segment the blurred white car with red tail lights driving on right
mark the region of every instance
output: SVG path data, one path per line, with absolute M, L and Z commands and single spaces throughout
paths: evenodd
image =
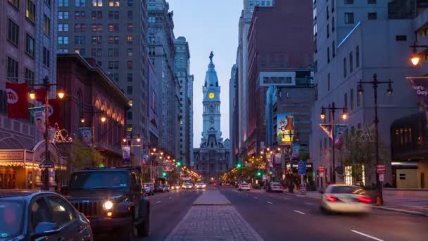
M 320 208 L 327 213 L 368 213 L 372 210 L 372 199 L 365 190 L 351 185 L 329 185 L 322 194 Z

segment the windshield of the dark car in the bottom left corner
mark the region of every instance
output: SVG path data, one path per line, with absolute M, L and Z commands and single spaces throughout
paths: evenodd
M 16 237 L 23 229 L 22 201 L 0 199 L 0 238 Z

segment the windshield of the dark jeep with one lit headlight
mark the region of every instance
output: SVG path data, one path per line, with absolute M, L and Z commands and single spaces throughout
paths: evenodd
M 129 185 L 126 171 L 94 171 L 73 173 L 69 190 L 123 188 Z

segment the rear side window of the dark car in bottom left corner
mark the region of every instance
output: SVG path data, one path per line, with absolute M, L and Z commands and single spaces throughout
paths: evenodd
M 53 220 L 58 226 L 75 219 L 73 208 L 65 200 L 55 196 L 48 196 L 46 200 L 51 207 Z

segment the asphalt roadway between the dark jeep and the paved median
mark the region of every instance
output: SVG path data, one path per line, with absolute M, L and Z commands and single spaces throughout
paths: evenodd
M 139 240 L 165 240 L 191 208 L 202 191 L 170 190 L 149 196 L 151 223 L 149 237 Z

